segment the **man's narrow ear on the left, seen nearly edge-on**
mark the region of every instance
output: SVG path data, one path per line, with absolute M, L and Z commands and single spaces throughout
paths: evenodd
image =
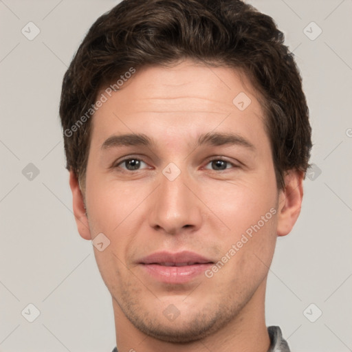
M 72 170 L 69 171 L 69 187 L 72 191 L 74 217 L 76 219 L 78 232 L 83 239 L 90 240 L 91 232 L 89 230 L 83 195 L 78 184 L 78 179 Z

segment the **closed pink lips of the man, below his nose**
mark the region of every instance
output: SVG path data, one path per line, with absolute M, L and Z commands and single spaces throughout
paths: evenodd
M 195 252 L 156 252 L 139 261 L 148 277 L 161 283 L 188 283 L 214 262 Z

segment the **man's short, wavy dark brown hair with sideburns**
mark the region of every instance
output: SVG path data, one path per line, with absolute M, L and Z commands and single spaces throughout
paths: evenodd
M 302 78 L 283 43 L 274 20 L 240 0 L 120 2 L 91 26 L 63 78 L 60 117 L 67 169 L 85 184 L 91 121 L 72 126 L 87 117 L 104 85 L 131 67 L 191 58 L 240 69 L 261 93 L 276 181 L 283 188 L 285 171 L 306 172 L 312 146 Z

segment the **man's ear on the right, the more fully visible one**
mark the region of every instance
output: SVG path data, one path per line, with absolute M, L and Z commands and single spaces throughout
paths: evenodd
M 278 197 L 278 236 L 291 232 L 300 214 L 303 199 L 304 173 L 289 170 L 285 174 L 285 188 L 280 190 Z

